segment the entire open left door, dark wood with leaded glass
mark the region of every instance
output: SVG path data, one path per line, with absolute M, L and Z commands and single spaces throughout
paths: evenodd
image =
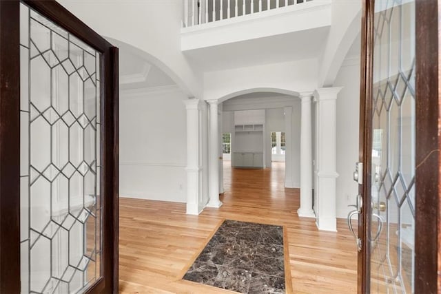
M 56 1 L 0 13 L 1 292 L 116 292 L 118 50 Z

